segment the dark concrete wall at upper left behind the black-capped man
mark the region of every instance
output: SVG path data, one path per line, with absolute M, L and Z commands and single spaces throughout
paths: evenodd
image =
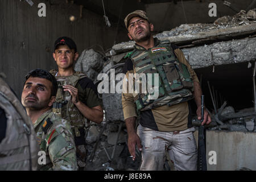
M 126 30 L 121 29 L 116 35 L 116 26 L 106 27 L 103 13 L 98 15 L 84 8 L 82 18 L 71 22 L 70 15 L 79 17 L 79 6 L 56 0 L 33 2 L 31 7 L 26 1 L 0 1 L 0 72 L 5 73 L 7 82 L 18 96 L 28 71 L 56 68 L 52 51 L 59 36 L 70 36 L 75 40 L 79 53 L 90 47 L 106 50 L 114 41 L 128 40 Z M 42 18 L 38 16 L 41 2 L 46 3 L 46 17 Z

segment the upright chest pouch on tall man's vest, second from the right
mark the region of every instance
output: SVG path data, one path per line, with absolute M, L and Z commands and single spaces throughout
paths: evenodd
M 167 64 L 163 65 L 164 72 L 166 73 L 166 78 L 168 80 L 168 84 L 171 87 L 171 91 L 174 92 L 176 90 L 180 90 L 183 88 L 180 81 L 179 72 L 177 72 L 176 64 Z

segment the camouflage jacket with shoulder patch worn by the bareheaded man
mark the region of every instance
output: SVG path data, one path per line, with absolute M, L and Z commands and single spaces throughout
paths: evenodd
M 77 170 L 76 148 L 71 126 L 51 110 L 42 114 L 34 123 L 40 151 L 39 170 Z

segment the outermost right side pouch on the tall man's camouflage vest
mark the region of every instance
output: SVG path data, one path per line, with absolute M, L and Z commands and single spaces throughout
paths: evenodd
M 185 64 L 180 63 L 179 69 L 181 84 L 184 86 L 184 88 L 193 88 L 193 81 L 188 71 L 188 67 Z

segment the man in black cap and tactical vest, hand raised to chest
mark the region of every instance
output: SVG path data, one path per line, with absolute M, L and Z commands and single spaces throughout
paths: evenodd
M 89 129 L 90 121 L 102 122 L 103 110 L 93 81 L 84 73 L 75 72 L 73 69 L 78 57 L 76 44 L 71 38 L 58 38 L 53 52 L 58 69 L 51 70 L 50 73 L 58 82 L 52 111 L 71 124 L 76 143 L 77 164 L 79 170 L 82 170 L 86 160 L 86 131 Z

